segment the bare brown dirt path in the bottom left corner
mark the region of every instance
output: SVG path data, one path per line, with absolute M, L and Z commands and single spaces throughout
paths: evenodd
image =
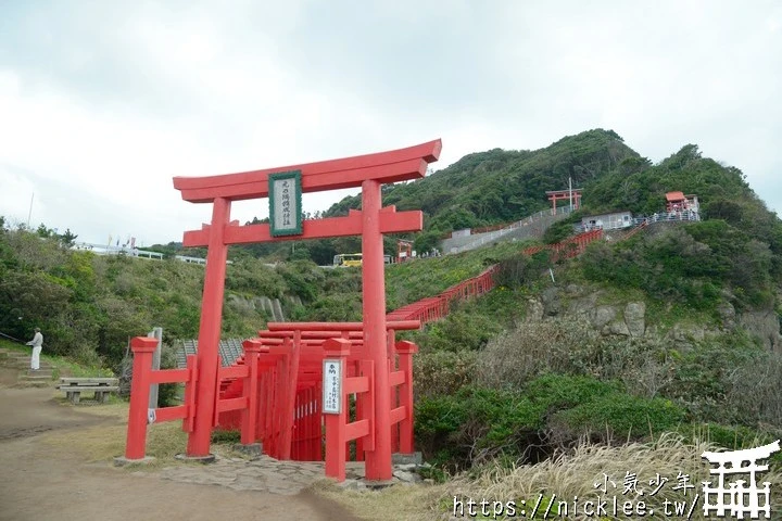
M 358 521 L 307 491 L 295 496 L 237 492 L 166 481 L 110 462 L 87 463 L 43 443 L 40 434 L 115 423 L 116 418 L 62 406 L 51 389 L 3 386 L 12 380 L 15 372 L 0 368 L 0 520 Z

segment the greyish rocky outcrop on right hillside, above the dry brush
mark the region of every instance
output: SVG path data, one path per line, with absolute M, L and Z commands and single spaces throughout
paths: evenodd
M 594 330 L 604 335 L 629 338 L 665 335 L 684 343 L 704 340 L 740 327 L 757 336 L 767 350 L 782 353 L 780 323 L 773 309 L 737 314 L 730 303 L 724 303 L 719 308 L 718 326 L 674 323 L 670 328 L 661 328 L 646 316 L 644 302 L 605 304 L 602 302 L 602 296 L 604 295 L 600 290 L 577 284 L 548 288 L 539 297 L 528 302 L 527 320 L 572 316 L 585 318 Z

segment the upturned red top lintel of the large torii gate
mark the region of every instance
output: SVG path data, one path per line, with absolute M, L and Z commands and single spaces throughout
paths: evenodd
M 440 157 L 438 139 L 406 149 L 302 165 L 206 177 L 175 177 L 174 188 L 191 203 L 207 203 L 215 198 L 230 201 L 268 196 L 268 176 L 279 171 L 301 170 L 302 191 L 317 192 L 361 187 L 368 179 L 381 183 L 421 178 L 426 168 Z

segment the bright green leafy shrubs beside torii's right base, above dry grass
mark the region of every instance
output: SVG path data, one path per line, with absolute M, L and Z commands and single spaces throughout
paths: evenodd
M 450 466 L 492 458 L 534 461 L 584 434 L 642 439 L 678 425 L 684 410 L 671 401 L 627 394 L 618 381 L 546 374 L 524 389 L 468 385 L 416 404 L 416 439 L 427 457 Z

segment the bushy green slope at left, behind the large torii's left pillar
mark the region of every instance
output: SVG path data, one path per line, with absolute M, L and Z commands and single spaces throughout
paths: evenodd
M 1 228 L 0 332 L 29 340 L 40 327 L 48 353 L 116 367 L 128 339 L 155 326 L 169 344 L 198 336 L 203 272 L 173 258 L 98 256 L 68 250 L 59 237 Z M 288 315 L 301 314 L 289 295 L 313 302 L 342 288 L 356 302 L 357 276 L 310 262 L 270 267 L 242 258 L 228 267 L 223 334 L 247 338 L 266 323 L 254 296 L 280 298 Z

